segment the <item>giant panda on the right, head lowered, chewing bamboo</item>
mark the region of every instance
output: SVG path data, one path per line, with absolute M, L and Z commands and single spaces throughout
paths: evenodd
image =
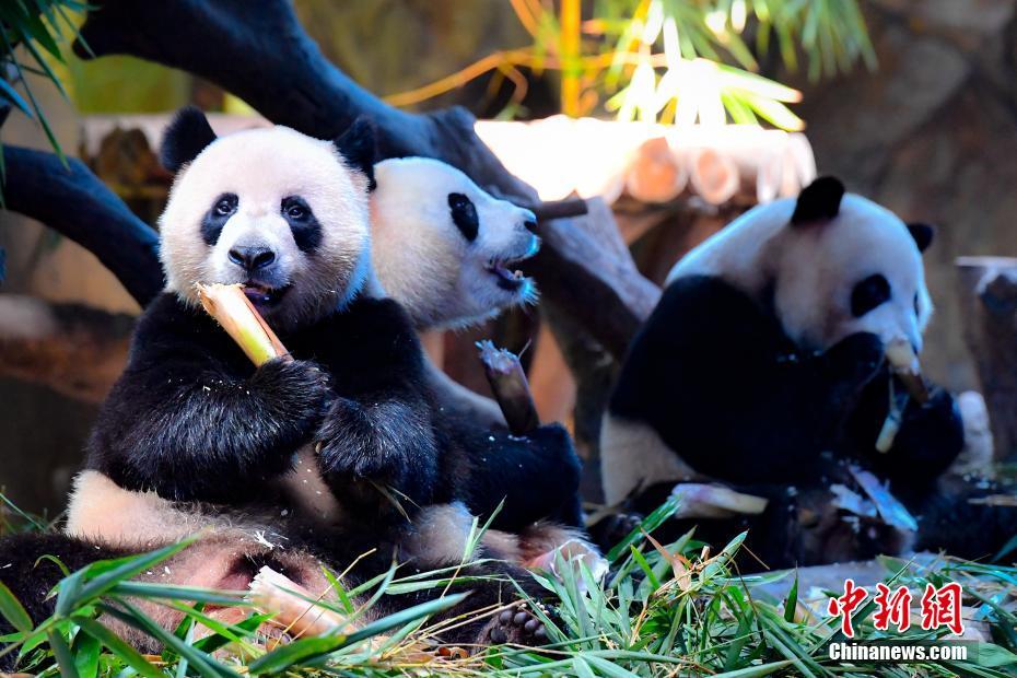
M 851 461 L 888 481 L 920 518 L 916 541 L 862 535 L 875 539 L 873 549 L 960 546 L 940 516 L 969 505 L 945 508 L 936 491 L 963 444 L 949 394 L 933 387 L 927 404 L 912 399 L 892 448 L 875 449 L 890 384 L 900 390 L 885 347 L 903 339 L 921 352 L 933 312 L 922 266 L 932 237 L 930 226 L 905 224 L 822 177 L 688 253 L 633 340 L 609 402 L 600 441 L 607 501 L 632 505 L 636 496 L 645 511 L 690 479 L 750 488 L 771 505 L 737 527 L 785 542 L 768 564 L 808 564 L 844 553 L 825 552 L 821 541 L 803 553 L 788 514 L 797 515 L 803 493 L 829 503 L 826 489 L 845 481 Z M 986 524 L 979 556 L 1005 539 L 1005 522 Z

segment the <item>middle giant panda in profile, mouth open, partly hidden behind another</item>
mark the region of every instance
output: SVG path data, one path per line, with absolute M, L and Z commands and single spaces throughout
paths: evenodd
M 372 261 L 384 292 L 407 309 L 419 330 L 464 328 L 512 306 L 536 303 L 533 279 L 515 269 L 540 248 L 536 215 L 494 198 L 459 170 L 426 157 L 374 165 L 371 191 Z M 484 478 L 471 475 L 466 504 L 482 518 L 499 507 L 492 526 L 533 535 L 550 518 L 580 539 L 580 459 L 560 424 L 511 435 L 498 406 L 457 385 L 426 363 L 426 379 L 443 417 L 445 444 L 503 463 Z M 559 472 L 538 479 L 534 469 L 558 459 Z M 511 479 L 505 472 L 517 474 Z M 545 531 L 554 528 L 545 524 Z M 554 538 L 552 538 L 553 540 Z

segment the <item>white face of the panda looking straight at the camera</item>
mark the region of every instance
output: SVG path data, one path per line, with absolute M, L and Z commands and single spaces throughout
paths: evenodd
M 332 142 L 252 129 L 213 138 L 187 162 L 160 218 L 168 290 L 196 303 L 196 283 L 239 283 L 271 325 L 291 329 L 361 289 L 369 179 Z

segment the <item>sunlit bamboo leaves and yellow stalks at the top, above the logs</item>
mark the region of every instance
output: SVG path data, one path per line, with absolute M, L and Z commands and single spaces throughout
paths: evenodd
M 388 97 L 413 104 L 498 70 L 525 86 L 517 68 L 559 73 L 561 110 L 599 109 L 621 120 L 721 125 L 764 120 L 782 129 L 803 121 L 786 106 L 800 93 L 758 74 L 758 59 L 774 51 L 795 71 L 799 56 L 818 80 L 875 68 L 857 0 L 510 0 L 533 45 L 489 55 L 458 73 Z M 588 15 L 581 15 L 587 9 Z M 513 77 L 515 74 L 516 77 Z

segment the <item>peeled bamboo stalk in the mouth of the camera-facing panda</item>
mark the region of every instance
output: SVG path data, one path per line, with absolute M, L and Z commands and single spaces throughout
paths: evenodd
M 198 284 L 198 299 L 255 365 L 288 356 L 279 337 L 254 307 L 239 284 Z

